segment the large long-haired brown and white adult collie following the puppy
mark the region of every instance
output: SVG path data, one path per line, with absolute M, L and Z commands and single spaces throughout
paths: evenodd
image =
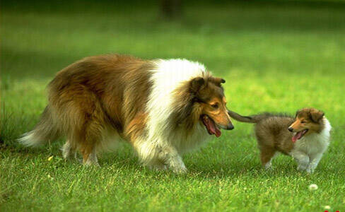
M 40 122 L 19 141 L 37 146 L 64 136 L 64 158 L 78 152 L 83 164 L 98 165 L 97 153 L 124 139 L 144 165 L 185 172 L 182 153 L 233 129 L 221 83 L 186 59 L 86 57 L 49 83 Z

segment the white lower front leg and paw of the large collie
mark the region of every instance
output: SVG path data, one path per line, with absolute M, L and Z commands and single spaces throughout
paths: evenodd
M 176 149 L 171 146 L 160 147 L 158 158 L 168 166 L 172 172 L 185 173 L 187 168 L 183 163 L 181 156 L 177 153 Z

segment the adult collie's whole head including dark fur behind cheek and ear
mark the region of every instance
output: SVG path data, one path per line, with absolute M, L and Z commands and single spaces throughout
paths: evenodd
M 192 127 L 200 122 L 210 135 L 221 136 L 220 129 L 234 129 L 226 108 L 223 78 L 205 75 L 192 78 L 176 93 L 179 124 Z

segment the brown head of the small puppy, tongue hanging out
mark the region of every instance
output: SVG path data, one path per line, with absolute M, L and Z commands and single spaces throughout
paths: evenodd
M 289 131 L 296 133 L 292 141 L 296 142 L 305 135 L 320 132 L 322 130 L 323 117 L 324 112 L 315 108 L 303 108 L 302 110 L 298 110 L 296 112 L 295 122 L 288 126 Z

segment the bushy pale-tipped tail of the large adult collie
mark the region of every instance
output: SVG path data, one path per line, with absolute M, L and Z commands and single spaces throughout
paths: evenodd
M 57 124 L 54 123 L 52 112 L 48 105 L 45 107 L 45 111 L 42 112 L 40 122 L 36 124 L 32 131 L 23 134 L 22 137 L 18 139 L 18 142 L 23 143 L 25 146 L 41 146 L 58 137 L 59 129 L 57 128 Z

